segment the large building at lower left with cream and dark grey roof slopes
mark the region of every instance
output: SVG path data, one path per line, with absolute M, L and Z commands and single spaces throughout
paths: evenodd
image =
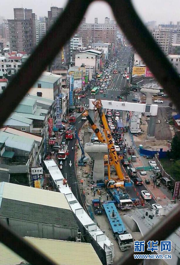
M 75 241 L 78 224 L 65 195 L 0 183 L 0 220 L 19 236 Z

